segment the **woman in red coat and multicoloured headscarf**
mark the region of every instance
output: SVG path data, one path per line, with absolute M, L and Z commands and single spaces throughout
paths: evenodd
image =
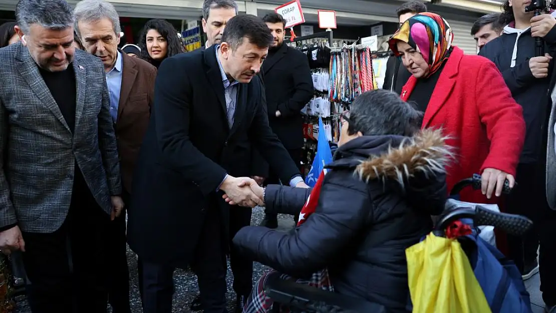
M 448 190 L 480 173 L 482 190 L 466 190 L 461 200 L 484 203 L 483 195 L 500 196 L 506 179 L 513 187 L 525 122 L 494 63 L 464 54 L 453 38 L 442 17 L 421 13 L 402 24 L 389 43 L 412 74 L 401 98 L 425 112 L 422 128 L 443 128 L 450 137 L 446 144 L 455 148 Z

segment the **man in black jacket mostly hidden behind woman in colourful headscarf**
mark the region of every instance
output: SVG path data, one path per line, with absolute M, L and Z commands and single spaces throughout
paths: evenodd
M 421 1 L 408 1 L 396 10 L 400 26 L 410 17 L 423 12 L 426 12 L 426 6 Z M 404 66 L 400 65 L 401 60 L 399 57 L 390 56 L 388 58 L 388 61 L 386 61 L 383 89 L 394 91 L 398 94 L 401 93 L 401 88 L 408 82 L 411 73 Z

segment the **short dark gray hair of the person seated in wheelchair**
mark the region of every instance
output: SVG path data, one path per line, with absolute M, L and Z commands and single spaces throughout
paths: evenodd
M 349 113 L 347 132 L 368 136 L 412 136 L 423 116 L 397 93 L 380 89 L 361 93 L 351 103 Z

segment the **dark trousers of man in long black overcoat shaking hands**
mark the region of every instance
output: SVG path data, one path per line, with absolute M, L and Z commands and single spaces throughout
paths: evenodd
M 226 259 L 220 209 L 207 209 L 193 264 L 205 313 L 226 311 Z M 142 261 L 143 313 L 171 313 L 174 291 L 171 265 Z

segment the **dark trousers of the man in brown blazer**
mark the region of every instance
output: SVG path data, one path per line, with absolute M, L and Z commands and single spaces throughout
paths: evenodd
M 131 202 L 130 194 L 123 191 L 122 200 L 125 206 Z M 108 269 L 110 285 L 108 287 L 108 303 L 113 313 L 131 313 L 130 308 L 130 270 L 127 266 L 126 245 L 126 210 L 116 217 L 108 230 L 108 255 L 111 266 Z

